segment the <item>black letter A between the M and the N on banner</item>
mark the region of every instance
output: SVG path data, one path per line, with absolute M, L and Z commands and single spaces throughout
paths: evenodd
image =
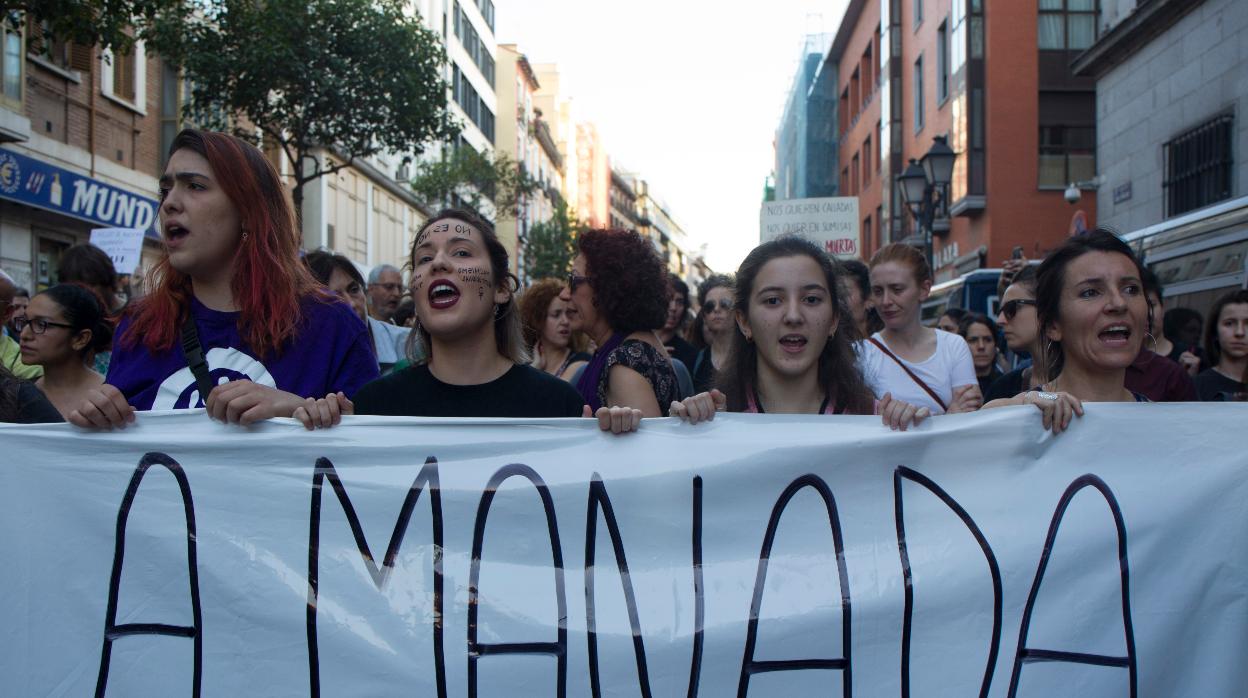
M 480 582 L 480 551 L 485 543 L 485 519 L 489 518 L 489 506 L 494 502 L 498 487 L 509 477 L 519 476 L 533 483 L 542 497 L 545 512 L 547 533 L 550 536 L 550 557 L 554 563 L 554 593 L 558 603 L 559 632 L 555 642 L 515 642 L 479 643 L 477 642 L 478 583 Z M 477 698 L 477 662 L 490 654 L 553 654 L 558 659 L 558 698 L 568 692 L 568 598 L 563 588 L 563 548 L 559 544 L 559 524 L 554 516 L 554 501 L 545 481 L 533 468 L 519 463 L 503 466 L 485 486 L 477 507 L 477 522 L 472 532 L 472 572 L 468 577 L 468 698 Z

